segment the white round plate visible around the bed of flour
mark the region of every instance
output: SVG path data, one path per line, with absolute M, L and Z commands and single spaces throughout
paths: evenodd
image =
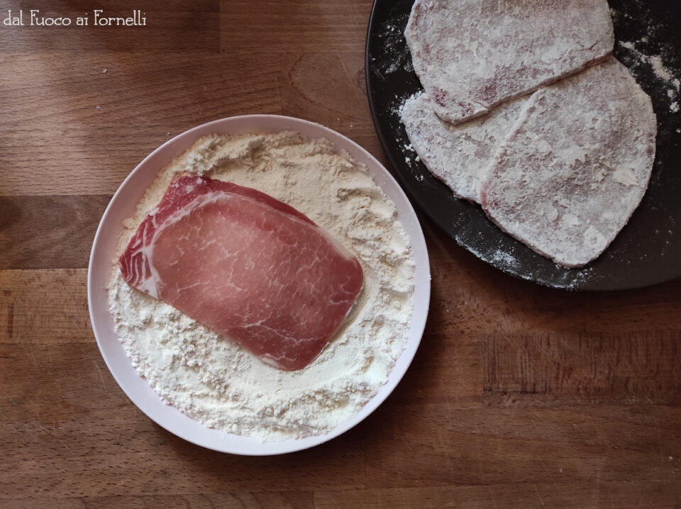
M 135 371 L 123 350 L 123 345 L 118 340 L 114 322 L 109 313 L 106 284 L 111 276 L 112 260 L 116 258 L 116 245 L 121 235 L 123 220 L 133 216 L 145 189 L 152 184 L 156 174 L 172 159 L 187 150 L 196 140 L 209 134 L 277 133 L 282 130 L 294 130 L 309 138 L 330 140 L 338 150 L 347 151 L 355 161 L 365 164 L 369 174 L 393 201 L 397 207 L 399 221 L 411 238 L 414 262 L 416 262 L 414 315 L 406 347 L 397 360 L 387 384 L 382 386 L 376 396 L 353 418 L 341 423 L 326 435 L 281 442 L 259 442 L 251 437 L 233 435 L 206 427 L 161 400 L 146 379 Z M 397 181 L 369 152 L 345 136 L 316 123 L 277 115 L 238 116 L 199 125 L 165 142 L 148 155 L 123 181 L 106 208 L 94 237 L 87 274 L 87 297 L 94 335 L 106 365 L 128 398 L 131 398 L 133 403 L 158 425 L 184 440 L 216 451 L 250 455 L 282 454 L 321 444 L 341 435 L 372 413 L 397 386 L 411 364 L 411 359 L 414 358 L 426 325 L 430 293 L 431 274 L 421 225 Z

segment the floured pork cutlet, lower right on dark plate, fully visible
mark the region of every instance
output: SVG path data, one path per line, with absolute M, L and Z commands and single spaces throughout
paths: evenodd
M 646 192 L 657 123 L 650 97 L 611 58 L 538 90 L 502 144 L 487 216 L 565 267 L 598 257 Z

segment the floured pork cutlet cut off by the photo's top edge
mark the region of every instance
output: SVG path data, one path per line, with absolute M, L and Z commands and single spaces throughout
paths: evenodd
M 612 51 L 605 0 L 416 0 L 404 30 L 433 108 L 460 123 Z

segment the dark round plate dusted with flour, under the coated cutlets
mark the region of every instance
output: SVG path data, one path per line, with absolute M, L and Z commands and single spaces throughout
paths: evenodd
M 404 27 L 413 0 L 376 0 L 366 47 L 367 93 L 383 149 L 411 200 L 459 245 L 494 267 L 538 284 L 618 290 L 681 276 L 681 2 L 612 0 L 614 55 L 653 99 L 657 153 L 646 196 L 599 258 L 564 269 L 499 230 L 482 208 L 455 198 L 410 148 L 399 107 L 421 90 Z M 660 63 L 664 69 L 660 67 Z M 675 107 L 674 104 L 677 104 Z

